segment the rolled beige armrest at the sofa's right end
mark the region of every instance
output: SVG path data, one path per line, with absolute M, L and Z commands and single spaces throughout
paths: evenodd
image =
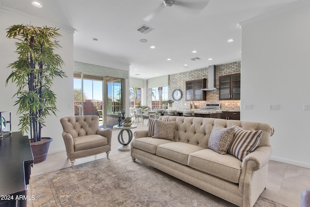
M 242 161 L 241 169 L 250 168 L 256 171 L 268 163 L 272 153 L 272 146 L 257 147 L 254 152 L 248 154 Z

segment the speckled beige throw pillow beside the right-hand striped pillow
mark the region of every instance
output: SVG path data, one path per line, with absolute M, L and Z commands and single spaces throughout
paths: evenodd
M 234 128 L 223 128 L 218 125 L 214 126 L 208 141 L 208 148 L 215 152 L 225 155 L 233 141 Z

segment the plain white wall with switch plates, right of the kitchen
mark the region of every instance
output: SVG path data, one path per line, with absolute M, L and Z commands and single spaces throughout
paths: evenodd
M 310 168 L 310 4 L 241 26 L 241 120 L 273 125 L 271 159 Z

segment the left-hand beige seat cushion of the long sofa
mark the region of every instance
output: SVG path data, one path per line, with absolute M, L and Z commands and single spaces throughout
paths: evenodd
M 143 151 L 156 154 L 156 147 L 160 144 L 171 143 L 173 141 L 165 139 L 156 139 L 152 137 L 142 137 L 134 139 L 133 144 L 135 148 L 141 149 Z

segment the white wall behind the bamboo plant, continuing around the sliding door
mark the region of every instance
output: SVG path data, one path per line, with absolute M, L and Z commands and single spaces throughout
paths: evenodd
M 0 8 L 0 95 L 2 101 L 0 101 L 0 111 L 12 112 L 12 131 L 18 131 L 18 116 L 16 115 L 17 107 L 13 106 L 16 99 L 12 99 L 12 96 L 16 93 L 16 87 L 14 84 L 9 83 L 5 87 L 5 80 L 10 74 L 10 69 L 7 66 L 16 60 L 15 54 L 15 40 L 6 38 L 6 29 L 14 24 L 30 24 L 35 26 L 48 26 L 58 27 L 54 23 L 47 22 L 37 17 L 25 15 L 17 11 L 6 11 Z M 60 28 L 60 27 L 58 27 Z M 54 80 L 52 90 L 57 95 L 57 116 L 49 116 L 46 119 L 46 125 L 42 130 L 42 136 L 52 137 L 53 142 L 50 143 L 48 153 L 54 153 L 65 150 L 65 146 L 62 140 L 62 126 L 60 124 L 60 118 L 64 116 L 74 115 L 73 110 L 73 60 L 83 63 L 102 65 L 112 68 L 118 68 L 129 71 L 129 64 L 117 62 L 110 57 L 106 57 L 103 54 L 99 54 L 93 51 L 87 51 L 83 48 L 77 48 L 74 50 L 74 29 L 73 28 L 61 28 L 59 33 L 62 37 L 58 38 L 62 48 L 57 49 L 55 52 L 62 57 L 64 65 L 62 70 L 65 71 L 68 78 Z M 75 54 L 75 56 L 73 56 Z M 129 90 L 129 79 L 126 79 L 125 88 Z M 126 111 L 129 111 L 129 93 L 125 93 Z

